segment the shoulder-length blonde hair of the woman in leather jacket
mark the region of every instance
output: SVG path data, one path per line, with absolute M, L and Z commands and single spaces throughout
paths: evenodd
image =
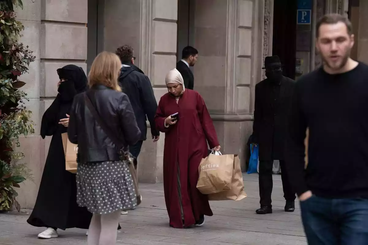
M 120 68 L 121 61 L 116 54 L 107 51 L 98 54 L 88 74 L 89 87 L 101 84 L 110 89 L 121 91 L 117 81 L 120 75 Z

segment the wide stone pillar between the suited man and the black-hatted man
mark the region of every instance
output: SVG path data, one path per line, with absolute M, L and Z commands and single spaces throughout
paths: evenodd
M 195 90 L 204 97 L 225 154 L 239 154 L 244 170 L 252 133 L 254 86 L 262 78 L 260 0 L 197 0 Z

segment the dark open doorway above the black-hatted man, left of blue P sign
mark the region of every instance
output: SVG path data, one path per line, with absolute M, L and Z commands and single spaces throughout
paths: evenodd
M 272 55 L 284 65 L 283 74 L 295 79 L 297 0 L 274 0 Z

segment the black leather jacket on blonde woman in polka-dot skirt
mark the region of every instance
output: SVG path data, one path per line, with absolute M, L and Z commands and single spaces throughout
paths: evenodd
M 85 93 L 100 118 L 107 122 L 110 130 L 115 132 L 125 145 L 137 143 L 141 131 L 126 94 L 102 85 L 94 86 Z M 70 142 L 78 144 L 79 162 L 119 161 L 118 149 L 86 106 L 85 93 L 75 96 L 68 125 Z

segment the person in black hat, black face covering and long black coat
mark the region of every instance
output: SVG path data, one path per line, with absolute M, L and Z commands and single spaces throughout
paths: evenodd
M 272 213 L 272 167 L 280 160 L 282 186 L 286 199 L 285 211 L 294 212 L 295 193 L 290 187 L 285 170 L 284 151 L 287 134 L 287 118 L 295 81 L 282 75 L 278 56 L 265 58 L 267 79 L 255 86 L 255 109 L 253 123 L 254 144 L 259 145 L 259 197 L 261 208 L 258 214 Z

